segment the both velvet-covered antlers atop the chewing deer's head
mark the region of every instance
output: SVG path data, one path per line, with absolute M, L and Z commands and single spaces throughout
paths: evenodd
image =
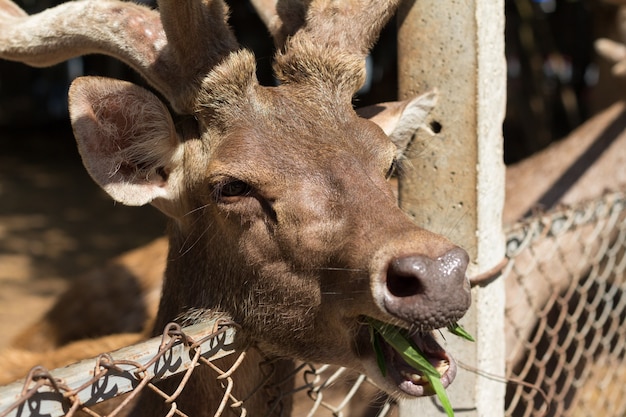
M 253 0 L 280 52 L 287 84 L 317 80 L 352 95 L 364 58 L 399 0 Z M 222 1 L 161 0 L 160 15 L 118 0 L 71 1 L 28 16 L 0 0 L 0 57 L 32 66 L 102 53 L 142 74 L 179 113 L 192 113 L 205 76 L 238 49 Z

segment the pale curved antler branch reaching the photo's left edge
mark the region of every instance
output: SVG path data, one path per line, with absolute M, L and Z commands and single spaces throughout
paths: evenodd
M 0 57 L 33 67 L 101 53 L 127 63 L 166 97 L 166 69 L 154 65 L 167 44 L 159 14 L 119 2 L 67 2 L 29 16 L 0 0 Z M 112 30 L 114 29 L 114 30 Z

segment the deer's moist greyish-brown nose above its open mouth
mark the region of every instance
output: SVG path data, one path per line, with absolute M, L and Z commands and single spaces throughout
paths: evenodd
M 387 266 L 384 306 L 392 315 L 424 330 L 460 319 L 470 306 L 465 276 L 469 256 L 454 248 L 437 259 L 408 255 Z

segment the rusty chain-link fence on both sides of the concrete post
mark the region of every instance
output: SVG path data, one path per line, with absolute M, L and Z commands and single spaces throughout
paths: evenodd
M 605 195 L 515 225 L 507 258 L 499 278 L 507 285 L 505 414 L 626 415 L 626 195 Z M 185 329 L 170 325 L 160 339 L 95 360 L 51 372 L 34 368 L 25 382 L 0 389 L 0 417 L 125 415 L 146 389 L 167 404 L 166 415 L 185 416 L 176 400 L 199 368 L 209 369 L 221 387 L 215 416 L 256 416 L 245 408 L 254 392 L 234 394 L 250 354 L 235 353 L 235 331 L 224 320 Z M 276 370 L 272 361 L 261 361 L 260 369 L 267 381 Z M 179 375 L 177 388 L 157 388 L 156 381 L 171 374 Z M 397 414 L 394 402 L 366 377 L 344 368 L 300 364 L 272 381 L 254 391 L 273 413 L 289 398 L 295 416 Z

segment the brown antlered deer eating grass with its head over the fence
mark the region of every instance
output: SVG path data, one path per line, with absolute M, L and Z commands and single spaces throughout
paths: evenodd
M 1 58 L 49 66 L 102 53 L 149 84 L 76 79 L 74 136 L 115 201 L 151 204 L 169 219 L 152 334 L 171 321 L 226 317 L 241 326 L 237 348 L 255 348 L 235 391 L 262 380 L 261 361 L 293 358 L 352 368 L 397 398 L 433 394 L 388 346 L 382 375 L 366 318 L 408 329 L 444 387 L 454 380 L 433 331 L 470 306 L 468 255 L 417 227 L 390 186 L 414 131 L 404 126 L 427 117 L 434 94 L 367 117 L 352 106 L 397 3 L 255 1 L 278 51 L 278 85 L 263 86 L 222 1 L 161 0 L 155 11 L 86 0 L 31 16 L 0 1 Z M 180 410 L 211 415 L 223 392 L 207 381 L 194 372 Z M 268 412 L 260 395 L 244 406 Z M 146 393 L 133 415 L 159 413 L 164 405 Z

